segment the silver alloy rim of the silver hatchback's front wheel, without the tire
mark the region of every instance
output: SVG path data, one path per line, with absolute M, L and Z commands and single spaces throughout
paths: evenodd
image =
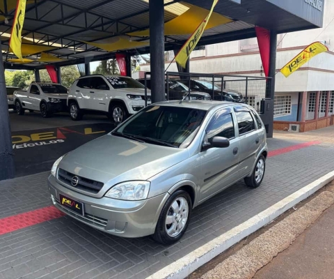
M 189 206 L 184 197 L 177 197 L 170 205 L 166 216 L 166 232 L 168 236 L 178 236 L 186 226 Z

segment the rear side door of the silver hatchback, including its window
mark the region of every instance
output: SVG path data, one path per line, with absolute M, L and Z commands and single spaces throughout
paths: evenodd
M 257 154 L 261 148 L 261 133 L 256 129 L 250 110 L 244 106 L 234 107 L 240 140 L 239 172 L 246 176 L 252 171 Z

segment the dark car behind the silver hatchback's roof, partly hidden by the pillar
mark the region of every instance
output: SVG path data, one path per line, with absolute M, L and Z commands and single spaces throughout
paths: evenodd
M 145 84 L 145 79 L 138 79 L 138 82 L 141 84 Z M 165 93 L 166 93 L 166 100 L 167 100 L 167 85 L 165 81 Z M 189 100 L 189 88 L 178 82 L 177 80 L 168 80 L 169 88 L 169 100 L 182 100 L 183 98 Z M 146 86 L 148 89 L 151 89 L 151 80 L 150 78 L 146 79 Z M 207 93 L 198 92 L 198 91 L 190 91 L 190 100 L 211 100 L 211 96 Z

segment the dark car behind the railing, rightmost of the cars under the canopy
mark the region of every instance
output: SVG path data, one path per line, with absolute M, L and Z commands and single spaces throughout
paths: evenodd
M 189 80 L 180 80 L 186 86 L 189 86 Z M 214 84 L 214 90 L 212 90 L 212 82 L 206 80 L 190 80 L 190 89 L 200 92 L 209 93 L 213 100 L 227 100 L 228 102 L 244 103 L 244 96 L 238 91 L 223 89 Z

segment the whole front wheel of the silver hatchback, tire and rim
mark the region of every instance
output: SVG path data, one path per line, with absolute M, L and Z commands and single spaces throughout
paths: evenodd
M 189 225 L 191 208 L 191 198 L 186 191 L 173 193 L 160 213 L 153 239 L 165 245 L 179 241 Z

